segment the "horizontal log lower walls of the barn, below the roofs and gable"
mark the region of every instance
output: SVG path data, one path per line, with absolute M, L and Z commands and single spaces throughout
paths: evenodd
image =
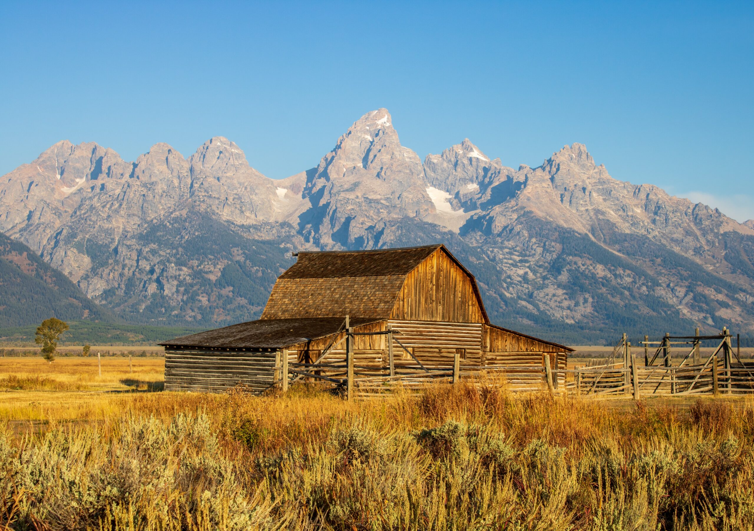
M 460 357 L 460 376 L 474 377 L 486 370 L 495 373 L 496 368 L 511 367 L 505 371 L 507 382 L 522 389 L 538 389 L 544 382 L 544 356 L 550 356 L 553 369 L 565 368 L 565 352 L 532 350 L 493 351 L 483 350 L 482 323 L 458 323 L 436 321 L 390 320 L 375 322 L 354 328 L 356 334 L 385 331 L 388 325 L 394 334 L 394 372 L 396 377 L 426 377 L 425 371 L 452 371 L 456 352 Z M 489 334 L 489 337 L 503 337 Z M 409 354 L 399 344 L 411 352 Z M 511 340 L 492 343 L 495 346 L 521 346 Z M 537 344 L 537 343 L 533 343 Z M 530 344 L 526 343 L 529 347 Z M 322 352 L 328 354 L 320 360 Z M 345 331 L 289 347 L 290 377 L 305 373 L 345 380 Z M 414 359 L 415 358 L 415 359 Z M 319 360 L 314 367 L 312 364 Z M 416 361 L 418 360 L 418 362 Z M 274 350 L 265 352 L 229 349 L 167 349 L 165 359 L 165 388 L 174 391 L 222 392 L 234 386 L 246 386 L 254 392 L 262 392 L 273 385 Z M 421 364 L 421 365 L 420 365 Z M 423 366 L 423 367 L 422 367 Z M 526 368 L 531 368 L 531 371 Z M 303 374 L 302 374 L 303 373 Z M 354 336 L 354 377 L 357 379 L 389 377 L 388 336 Z M 425 375 L 425 376 L 422 376 Z M 442 376 L 442 375 L 440 375 Z M 311 376 L 307 377 L 311 379 Z M 333 381 L 329 381 L 332 385 Z M 558 374 L 565 385 L 565 377 Z M 323 380 L 318 380 L 322 382 Z M 371 384 L 370 384 L 371 385 Z M 375 384 L 376 385 L 376 384 Z

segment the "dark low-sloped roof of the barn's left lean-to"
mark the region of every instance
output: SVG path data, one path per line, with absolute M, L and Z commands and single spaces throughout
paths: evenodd
M 160 343 L 163 346 L 192 346 L 233 349 L 280 349 L 335 334 L 345 317 L 309 319 L 262 319 L 241 322 Z M 350 319 L 351 326 L 367 325 L 375 319 Z

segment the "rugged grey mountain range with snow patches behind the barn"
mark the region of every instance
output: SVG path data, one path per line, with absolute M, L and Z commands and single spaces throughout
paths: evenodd
M 281 180 L 220 136 L 134 162 L 58 142 L 0 178 L 0 230 L 129 322 L 254 319 L 294 250 L 442 242 L 510 328 L 576 343 L 754 333 L 754 221 L 613 179 L 578 143 L 535 168 L 469 139 L 422 161 L 384 108 Z

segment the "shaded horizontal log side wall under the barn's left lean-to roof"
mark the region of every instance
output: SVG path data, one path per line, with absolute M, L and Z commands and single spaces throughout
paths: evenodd
M 275 352 L 165 349 L 166 391 L 222 392 L 239 384 L 255 392 L 272 385 Z

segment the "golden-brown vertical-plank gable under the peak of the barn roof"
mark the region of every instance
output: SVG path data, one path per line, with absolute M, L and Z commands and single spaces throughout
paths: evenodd
M 391 319 L 401 321 L 484 322 L 469 276 L 442 249 L 406 275 Z

